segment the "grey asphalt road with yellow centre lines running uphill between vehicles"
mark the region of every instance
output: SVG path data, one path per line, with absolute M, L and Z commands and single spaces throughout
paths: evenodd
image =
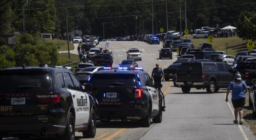
M 105 46 L 100 42 L 96 47 Z M 145 42 L 110 42 L 109 50 L 113 51 L 113 67 L 126 59 L 128 48 L 139 48 L 142 51 L 143 67 L 151 75 L 156 63 L 163 69 L 172 64 L 176 59 L 158 59 L 160 45 L 149 45 Z M 225 92 L 221 89 L 218 93 L 207 94 L 206 90 L 192 89 L 189 94 L 184 94 L 179 87 L 173 87 L 172 81 L 162 82 L 162 91 L 166 95 L 166 112 L 163 112 L 162 123 L 152 123 L 149 128 L 140 127 L 137 122 L 111 121 L 108 123 L 97 122 L 96 136 L 93 140 L 255 140 L 249 126 L 233 124 L 232 103 L 225 102 Z M 230 95 L 231 96 L 231 95 Z M 231 98 L 231 97 L 230 97 Z M 82 133 L 76 132 L 77 140 L 84 140 Z M 32 138 L 44 140 L 45 138 Z M 49 138 L 49 140 L 55 138 Z M 5 140 L 17 140 L 6 138 Z

